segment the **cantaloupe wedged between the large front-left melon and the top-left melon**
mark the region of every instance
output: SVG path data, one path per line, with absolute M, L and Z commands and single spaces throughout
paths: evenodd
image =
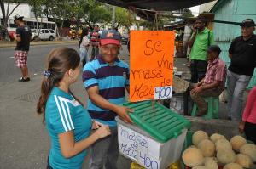
M 211 157 L 215 153 L 215 144 L 213 144 L 212 141 L 208 139 L 202 140 L 197 145 L 197 147 L 201 150 L 201 153 L 204 155 L 204 157 Z

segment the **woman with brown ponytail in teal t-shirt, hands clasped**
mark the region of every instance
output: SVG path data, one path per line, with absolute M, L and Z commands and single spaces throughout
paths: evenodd
M 83 104 L 69 90 L 80 73 L 79 54 L 72 48 L 55 48 L 47 58 L 38 114 L 51 139 L 48 168 L 79 169 L 86 149 L 96 140 L 110 134 L 108 126 L 92 122 Z M 96 132 L 90 133 L 91 129 Z

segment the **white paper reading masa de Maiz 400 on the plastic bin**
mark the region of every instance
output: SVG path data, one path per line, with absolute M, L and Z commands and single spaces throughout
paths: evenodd
M 119 151 L 149 169 L 160 168 L 160 145 L 119 124 Z

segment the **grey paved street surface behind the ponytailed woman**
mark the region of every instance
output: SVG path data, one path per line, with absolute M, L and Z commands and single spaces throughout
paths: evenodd
M 49 136 L 37 115 L 42 70 L 45 56 L 53 48 L 63 45 L 32 46 L 28 66 L 32 81 L 18 82 L 20 70 L 15 67 L 14 48 L 0 48 L 0 169 L 45 168 L 49 153 Z M 67 44 L 79 49 L 77 44 Z M 120 54 L 127 56 L 126 48 Z M 79 79 L 73 93 L 86 103 L 87 95 Z M 87 167 L 85 162 L 84 168 Z M 130 168 L 130 161 L 120 157 L 119 168 Z

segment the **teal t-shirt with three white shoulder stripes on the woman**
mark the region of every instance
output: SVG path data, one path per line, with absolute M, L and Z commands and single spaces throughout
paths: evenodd
M 75 142 L 87 138 L 91 130 L 91 118 L 87 110 L 72 95 L 54 87 L 46 103 L 45 122 L 51 139 L 49 166 L 55 169 L 82 168 L 87 150 L 71 158 L 65 158 L 61 154 L 58 135 L 73 131 Z

